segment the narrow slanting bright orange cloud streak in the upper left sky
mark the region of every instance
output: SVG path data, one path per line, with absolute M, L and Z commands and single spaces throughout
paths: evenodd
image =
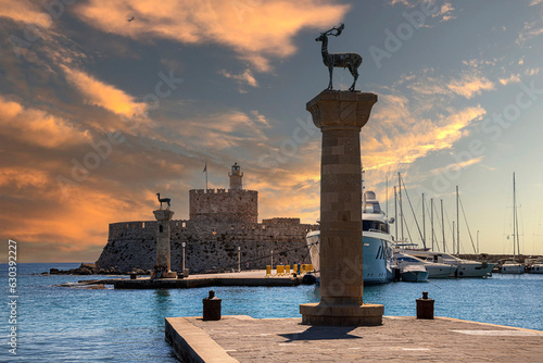
M 61 65 L 67 80 L 86 98 L 86 102 L 126 117 L 146 115 L 147 107 L 136 102 L 134 97 L 77 70 Z

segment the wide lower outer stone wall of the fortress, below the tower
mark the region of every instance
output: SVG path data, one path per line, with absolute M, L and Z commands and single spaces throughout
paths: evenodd
M 156 259 L 156 222 L 110 224 L 108 245 L 96 262 L 96 268 L 129 273 L 152 270 Z M 299 218 L 272 218 L 262 223 L 198 223 L 172 221 L 172 271 L 181 271 L 182 242 L 185 266 L 191 273 L 227 272 L 238 268 L 265 268 L 274 265 L 310 263 L 305 235 L 318 225 L 301 224 Z

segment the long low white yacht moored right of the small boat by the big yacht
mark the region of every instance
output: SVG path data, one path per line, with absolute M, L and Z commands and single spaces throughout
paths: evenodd
M 416 258 L 428 262 L 445 263 L 457 267 L 456 272 L 451 277 L 487 277 L 490 276 L 492 268 L 496 263 L 478 262 L 458 259 L 452 254 L 444 252 L 419 251 L 419 250 L 403 250 Z

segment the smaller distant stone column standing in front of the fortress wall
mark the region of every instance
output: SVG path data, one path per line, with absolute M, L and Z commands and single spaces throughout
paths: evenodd
M 177 278 L 177 273 L 172 271 L 172 253 L 169 241 L 169 221 L 174 211 L 156 210 L 153 211 L 156 218 L 156 266 L 151 278 Z

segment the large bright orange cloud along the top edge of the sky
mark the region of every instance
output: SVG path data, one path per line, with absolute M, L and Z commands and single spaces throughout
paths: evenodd
M 77 14 L 90 26 L 138 40 L 226 45 L 265 72 L 270 70 L 269 58 L 295 52 L 293 37 L 298 32 L 339 23 L 349 9 L 316 0 L 164 0 L 160 5 L 153 0 L 91 0 L 79 5 Z M 131 16 L 135 21 L 127 23 L 125 20 Z

